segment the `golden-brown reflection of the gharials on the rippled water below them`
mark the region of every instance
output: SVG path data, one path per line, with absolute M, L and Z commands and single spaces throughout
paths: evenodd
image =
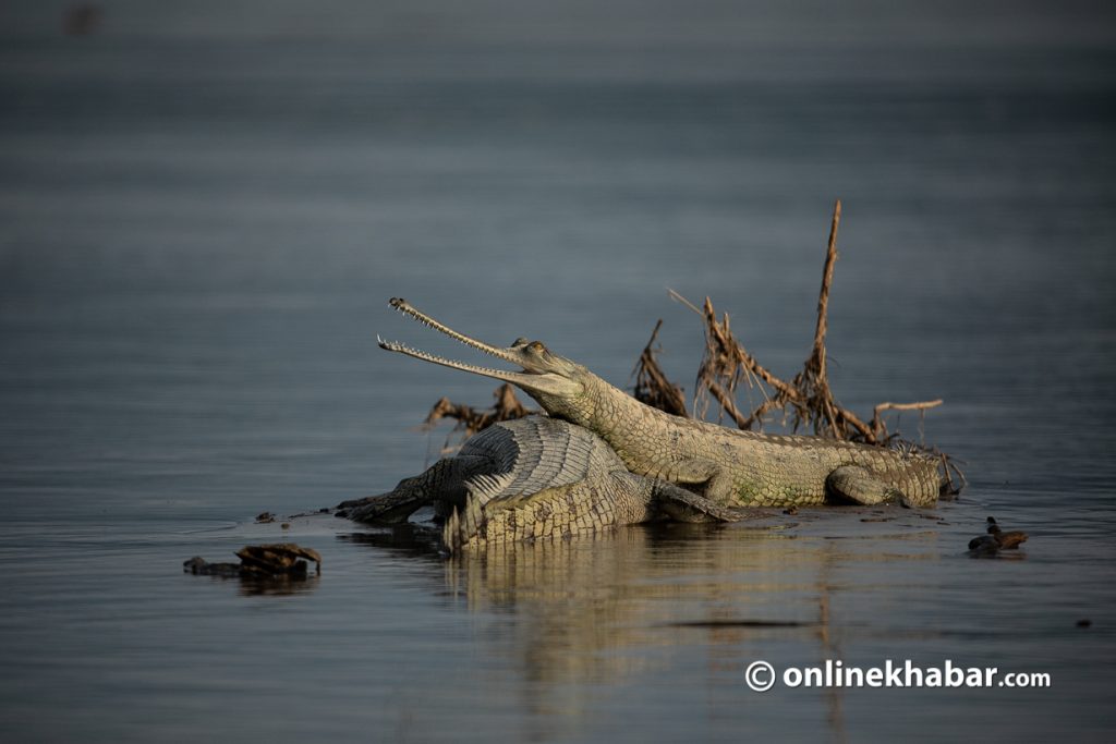
M 431 590 L 449 589 L 470 613 L 493 618 L 480 641 L 489 664 L 529 683 L 519 692 L 529 719 L 552 724 L 558 716 L 576 727 L 600 686 L 646 685 L 675 669 L 680 654 L 724 688 L 734 700 L 725 705 L 739 704 L 743 669 L 769 645 L 798 647 L 809 664 L 840 659 L 830 606 L 848 567 L 870 561 L 886 571 L 920 560 L 932 554 L 924 548 L 934 534 L 917 514 L 869 528 L 857 511 L 837 520 L 829 512 L 818 525 L 820 513 L 759 526 L 635 525 L 449 559 L 437 552 L 436 532 L 415 524 L 343 539 L 442 561 L 445 587 Z M 883 529 L 887 551 L 876 539 Z M 866 537 L 874 539 L 858 539 Z M 843 693 L 825 695 L 830 732 L 843 738 Z

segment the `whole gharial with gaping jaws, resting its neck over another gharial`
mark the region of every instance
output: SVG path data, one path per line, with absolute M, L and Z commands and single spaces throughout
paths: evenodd
M 381 347 L 511 383 L 554 417 L 594 432 L 634 474 L 685 486 L 727 506 L 903 501 L 931 506 L 942 490 L 932 457 L 816 436 L 758 434 L 672 416 L 644 405 L 588 369 L 518 339 L 499 348 L 454 331 L 393 299 L 392 307 L 523 371 L 478 367 L 395 341 Z

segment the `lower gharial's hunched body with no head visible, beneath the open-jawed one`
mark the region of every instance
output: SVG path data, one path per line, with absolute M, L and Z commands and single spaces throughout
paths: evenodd
M 545 416 L 494 424 L 392 492 L 340 509 L 356 521 L 391 523 L 426 505 L 446 518 L 450 552 L 657 519 L 739 519 L 667 481 L 628 472 L 600 437 Z

